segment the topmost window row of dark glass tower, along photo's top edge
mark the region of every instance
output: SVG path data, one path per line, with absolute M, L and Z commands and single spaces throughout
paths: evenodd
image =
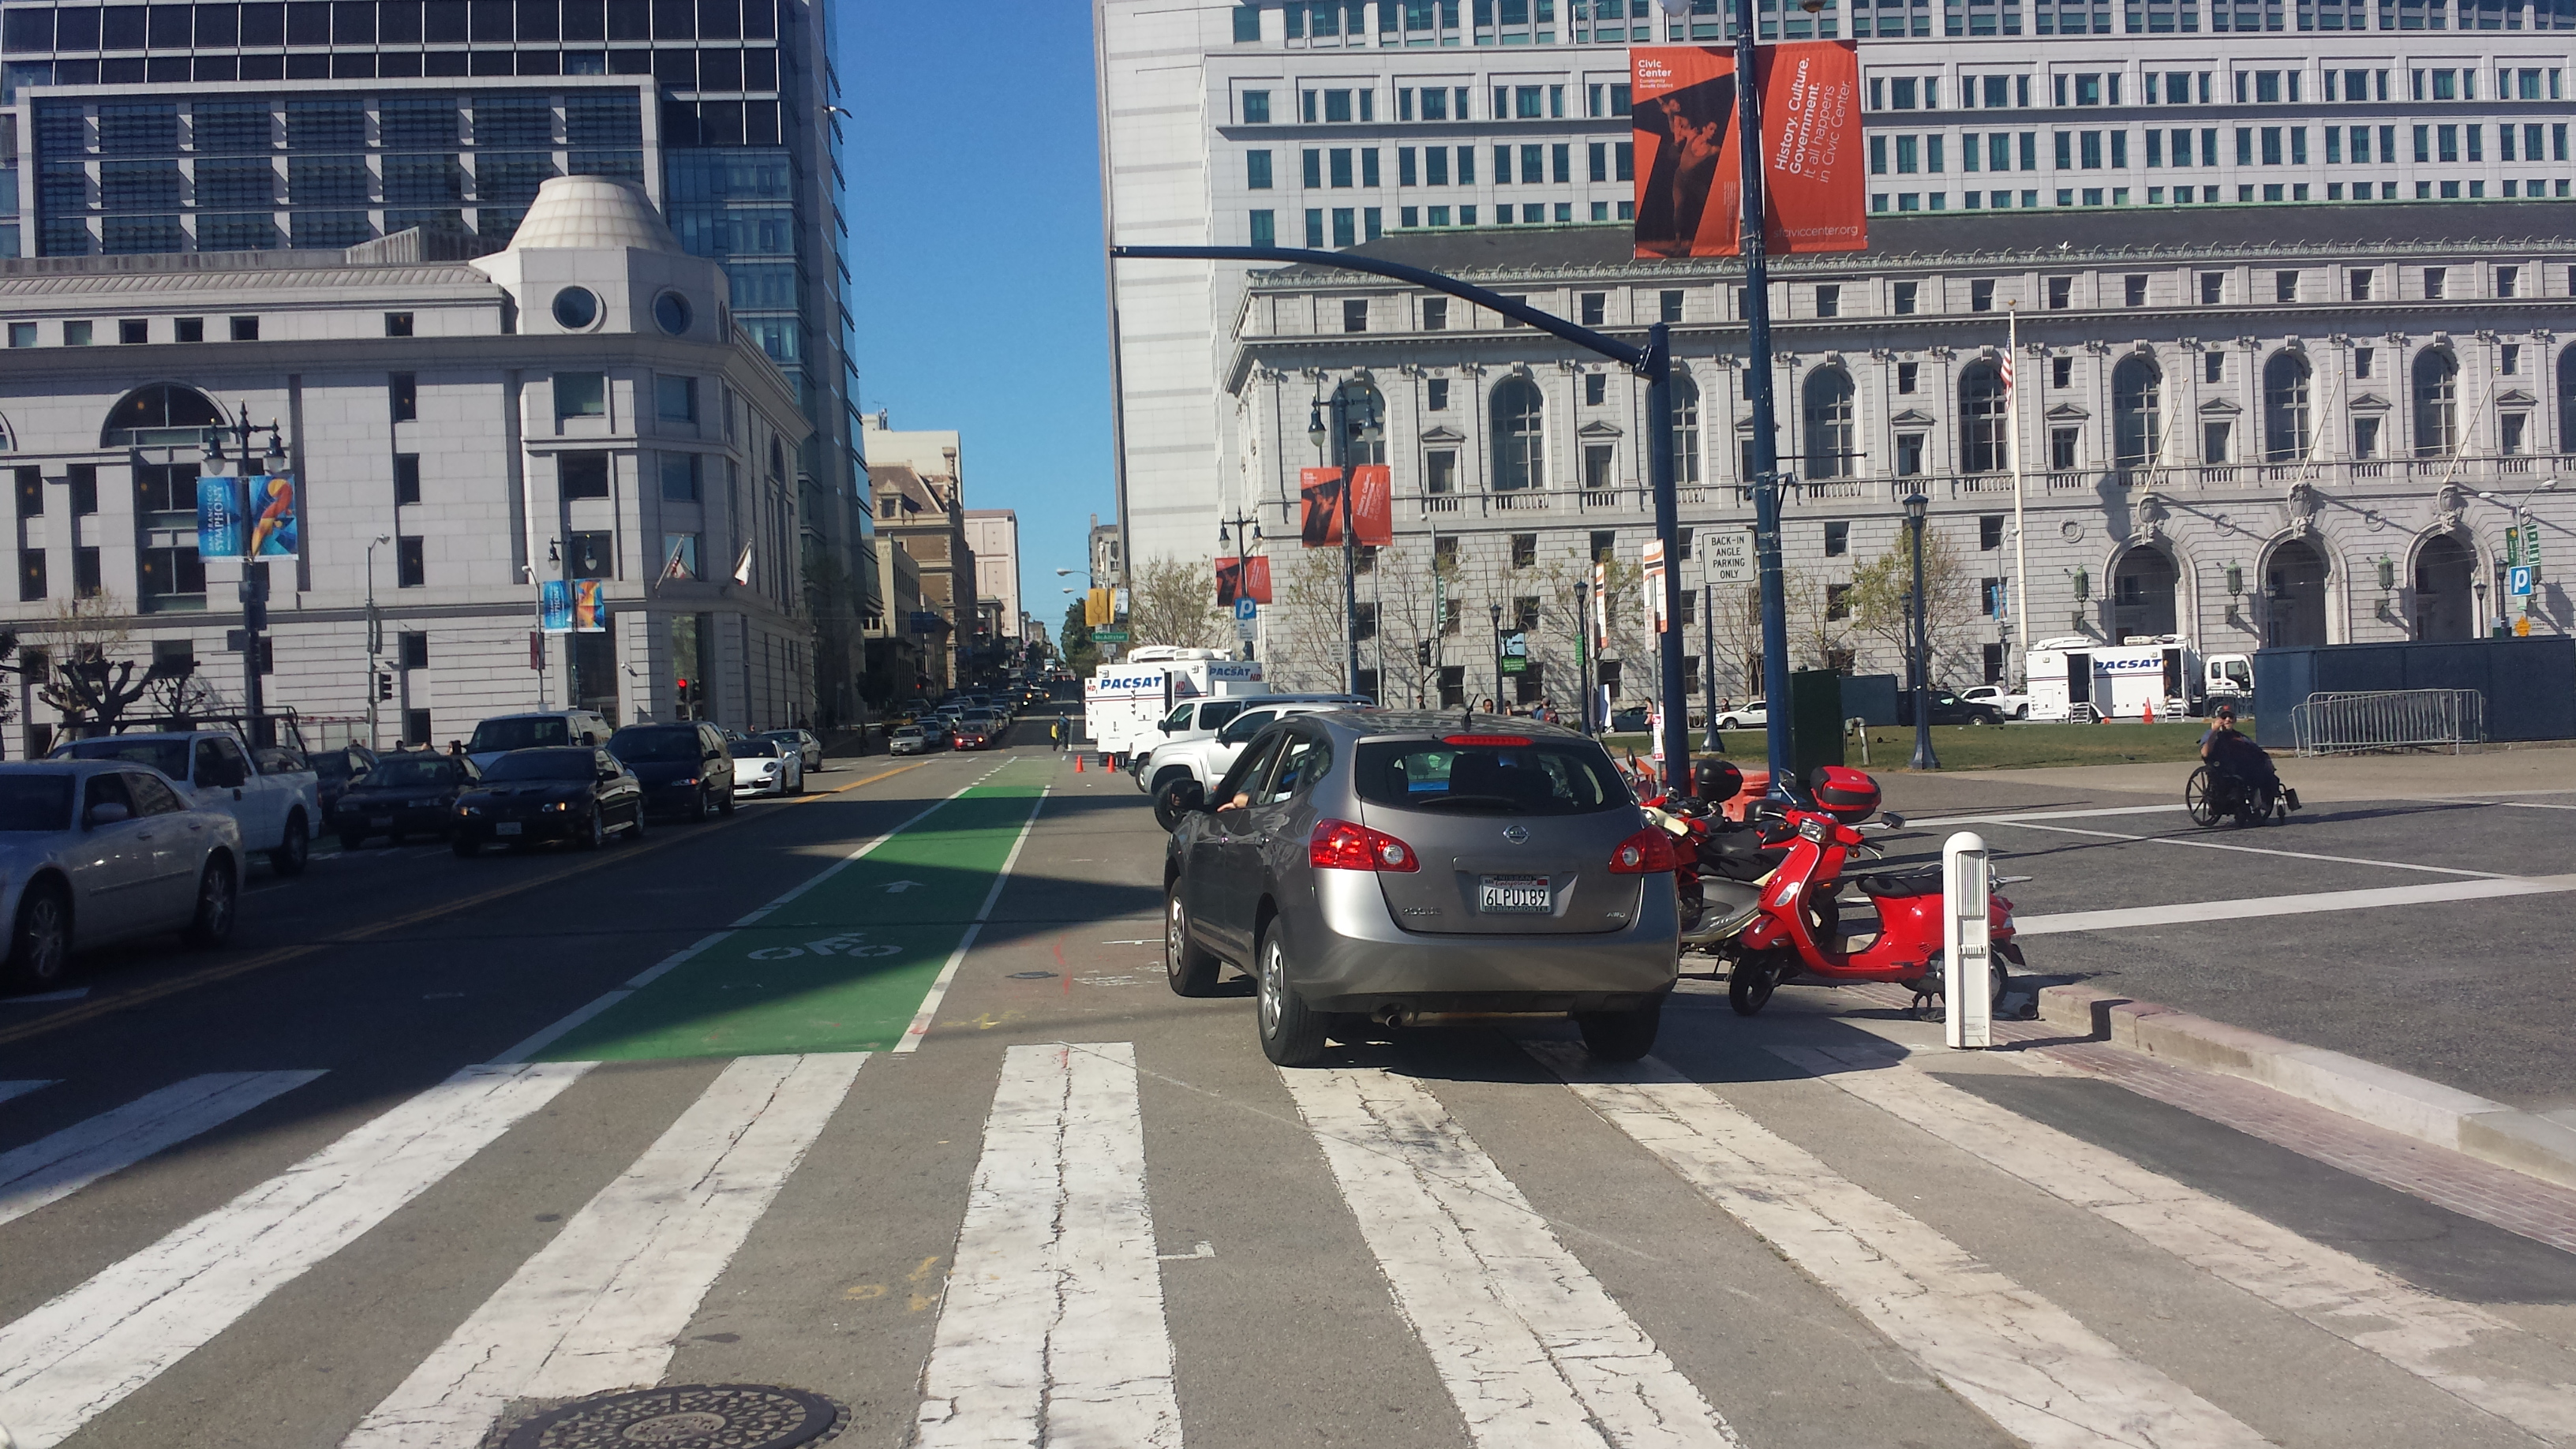
M 0 10 L 0 54 L 775 36 L 775 0 L 250 0 Z

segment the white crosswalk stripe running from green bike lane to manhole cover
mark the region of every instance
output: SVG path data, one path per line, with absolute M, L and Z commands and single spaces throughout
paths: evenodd
M 412 1369 L 343 1449 L 479 1444 L 513 1397 L 649 1385 L 866 1052 L 737 1057 Z

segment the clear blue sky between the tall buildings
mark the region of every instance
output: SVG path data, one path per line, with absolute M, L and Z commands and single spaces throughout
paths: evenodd
M 1023 608 L 1054 637 L 1082 583 L 1056 570 L 1118 511 L 1092 8 L 1007 5 L 963 44 L 904 5 L 835 21 L 858 405 L 963 433 L 966 505 L 1020 513 Z

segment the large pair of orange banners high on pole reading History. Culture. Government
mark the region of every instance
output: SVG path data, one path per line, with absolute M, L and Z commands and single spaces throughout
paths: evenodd
M 1757 52 L 1762 83 L 1762 245 L 1772 255 L 1870 245 L 1860 173 L 1860 52 L 1788 41 Z M 1628 52 L 1636 134 L 1636 255 L 1741 253 L 1736 54 L 1718 46 Z

